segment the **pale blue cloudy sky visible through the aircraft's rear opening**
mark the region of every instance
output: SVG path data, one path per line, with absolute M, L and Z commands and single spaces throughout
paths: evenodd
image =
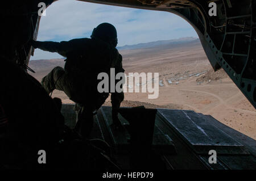
M 112 23 L 117 28 L 119 47 L 180 37 L 197 37 L 188 22 L 170 12 L 59 0 L 46 9 L 46 16 L 42 16 L 37 40 L 62 41 L 90 37 L 93 28 L 104 22 Z M 36 49 L 31 60 L 60 57 L 57 53 Z

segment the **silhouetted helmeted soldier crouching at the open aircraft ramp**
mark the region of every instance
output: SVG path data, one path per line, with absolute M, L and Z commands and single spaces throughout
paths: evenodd
M 57 52 L 67 57 L 64 69 L 57 66 L 42 79 L 42 85 L 48 93 L 53 90 L 64 91 L 69 99 L 79 107 L 76 129 L 88 137 L 93 126 L 93 113 L 98 110 L 108 98 L 109 93 L 97 90 L 97 76 L 101 72 L 110 75 L 110 68 L 115 68 L 115 74 L 124 72 L 122 56 L 115 48 L 117 46 L 117 31 L 112 24 L 102 23 L 94 28 L 91 39 L 73 39 L 70 41 L 32 41 L 34 48 L 49 52 Z M 110 86 L 109 86 L 110 87 Z M 115 125 L 118 120 L 118 108 L 124 98 L 123 92 L 113 92 L 112 117 Z

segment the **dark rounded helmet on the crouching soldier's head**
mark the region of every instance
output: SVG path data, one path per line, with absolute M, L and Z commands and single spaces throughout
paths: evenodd
M 110 23 L 101 23 L 93 29 L 91 38 L 99 38 L 117 47 L 117 30 Z

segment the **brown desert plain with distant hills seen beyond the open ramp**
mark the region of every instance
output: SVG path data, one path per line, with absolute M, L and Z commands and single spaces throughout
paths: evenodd
M 256 110 L 224 70 L 210 66 L 200 40 L 125 46 L 119 48 L 125 73 L 159 73 L 159 97 L 148 93 L 125 93 L 123 107 L 170 108 L 193 110 L 211 115 L 221 123 L 256 139 Z M 55 66 L 64 67 L 64 59 L 30 61 L 31 73 L 41 79 Z M 53 91 L 63 103 L 73 103 L 62 91 Z M 104 104 L 110 106 L 110 98 Z

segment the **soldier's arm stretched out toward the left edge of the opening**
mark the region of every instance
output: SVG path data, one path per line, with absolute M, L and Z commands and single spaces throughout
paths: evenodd
M 69 41 L 55 42 L 31 40 L 31 45 L 34 48 L 39 48 L 44 51 L 57 52 L 64 57 L 67 57 L 67 53 L 72 49 L 72 45 Z

